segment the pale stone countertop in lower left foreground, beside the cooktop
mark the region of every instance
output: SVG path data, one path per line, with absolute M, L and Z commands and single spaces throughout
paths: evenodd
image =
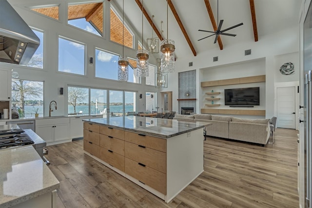
M 33 146 L 0 150 L 0 208 L 59 188 L 59 181 Z

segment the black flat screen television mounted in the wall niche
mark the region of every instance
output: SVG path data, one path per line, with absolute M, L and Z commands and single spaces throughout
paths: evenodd
M 224 90 L 225 105 L 260 105 L 259 87 Z

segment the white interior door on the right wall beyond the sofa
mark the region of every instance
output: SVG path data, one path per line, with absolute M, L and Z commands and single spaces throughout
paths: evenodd
M 277 88 L 277 128 L 295 129 L 295 87 Z

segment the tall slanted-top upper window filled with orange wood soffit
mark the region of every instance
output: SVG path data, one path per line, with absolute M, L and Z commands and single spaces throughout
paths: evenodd
M 117 16 L 117 12 L 115 12 L 112 8 L 111 8 L 110 20 L 111 20 L 111 31 L 110 31 L 111 40 L 122 45 L 122 30 L 123 30 L 124 46 L 133 48 L 134 46 L 133 45 L 133 37 L 134 37 L 133 33 L 128 29 L 126 24 L 122 25 L 121 17 Z

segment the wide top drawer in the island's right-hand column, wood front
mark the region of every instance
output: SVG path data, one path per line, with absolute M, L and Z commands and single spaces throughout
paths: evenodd
M 163 152 L 167 151 L 167 140 L 156 138 L 154 136 L 125 131 L 125 141 L 137 145 L 142 145 L 144 147 L 148 147 L 154 150 L 159 150 Z

